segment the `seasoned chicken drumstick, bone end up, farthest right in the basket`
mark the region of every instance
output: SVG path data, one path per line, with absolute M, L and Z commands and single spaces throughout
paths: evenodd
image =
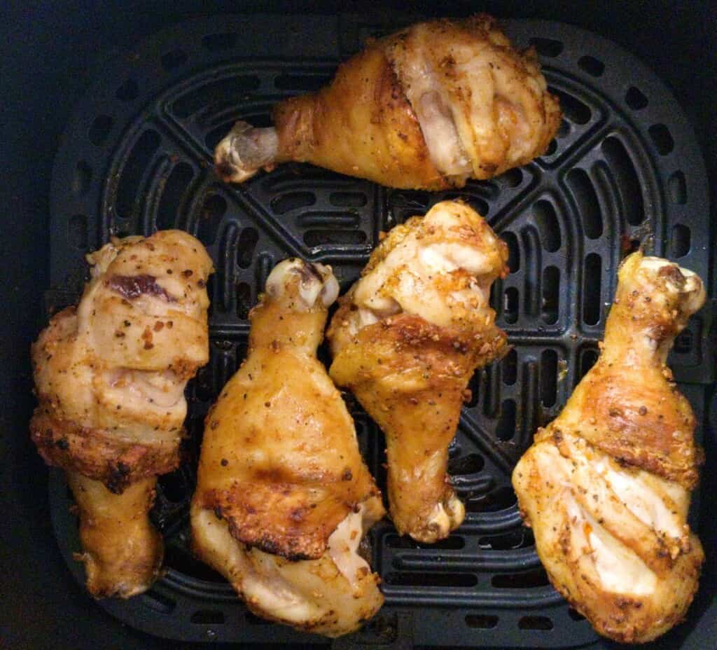
M 704 556 L 687 513 L 701 451 L 665 362 L 704 300 L 694 273 L 630 255 L 600 358 L 513 471 L 551 582 L 623 643 L 668 631 L 697 590 Z

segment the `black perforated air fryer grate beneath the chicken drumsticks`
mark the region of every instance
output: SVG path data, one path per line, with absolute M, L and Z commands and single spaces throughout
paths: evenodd
M 319 88 L 366 37 L 400 26 L 355 16 L 181 24 L 105 67 L 75 112 L 54 166 L 48 308 L 77 299 L 85 253 L 110 235 L 180 227 L 204 242 L 217 269 L 209 283 L 211 361 L 188 388 L 191 438 L 179 471 L 160 479 L 153 511 L 167 573 L 137 598 L 100 602 L 129 626 L 186 641 L 328 643 L 247 613 L 229 585 L 191 556 L 188 506 L 202 420 L 244 358 L 247 313 L 275 263 L 290 255 L 330 263 L 345 290 L 381 230 L 462 197 L 508 242 L 511 275 L 495 283 L 492 300 L 513 344 L 473 378 L 450 449 L 467 517 L 436 545 L 399 537 L 389 522 L 376 526 L 373 565 L 386 606 L 364 631 L 334 644 L 567 648 L 597 638 L 549 585 L 521 526 L 511 470 L 597 358 L 625 251 L 641 244 L 708 277 L 701 157 L 668 90 L 627 52 L 564 24 L 515 21 L 508 33 L 536 47 L 564 110 L 556 140 L 532 164 L 436 194 L 291 164 L 241 187 L 219 182 L 211 153 L 235 120 L 267 125 L 277 100 Z M 709 326 L 705 310 L 671 359 L 700 420 L 705 386 L 714 381 Z M 347 399 L 383 486 L 381 434 Z M 50 496 L 57 540 L 82 583 L 60 472 Z

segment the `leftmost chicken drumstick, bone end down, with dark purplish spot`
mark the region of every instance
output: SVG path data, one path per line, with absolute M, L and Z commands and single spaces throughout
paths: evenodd
M 184 387 L 209 359 L 212 261 L 179 230 L 115 239 L 87 259 L 80 304 L 53 316 L 32 347 L 30 430 L 45 461 L 67 471 L 87 589 L 128 598 L 161 565 L 148 512 L 156 477 L 179 463 Z

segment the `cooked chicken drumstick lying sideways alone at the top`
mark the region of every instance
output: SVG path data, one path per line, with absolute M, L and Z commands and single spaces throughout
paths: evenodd
M 274 128 L 237 122 L 219 143 L 222 179 L 293 160 L 390 187 L 462 187 L 543 154 L 561 113 L 535 52 L 513 50 L 480 14 L 371 42 L 331 85 L 277 104 L 273 118 Z

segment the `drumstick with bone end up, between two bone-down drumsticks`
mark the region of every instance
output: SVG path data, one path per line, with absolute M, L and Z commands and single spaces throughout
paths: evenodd
M 246 361 L 206 418 L 194 550 L 259 616 L 326 636 L 383 597 L 359 542 L 384 515 L 353 421 L 316 359 L 338 283 L 286 260 L 252 309 Z

